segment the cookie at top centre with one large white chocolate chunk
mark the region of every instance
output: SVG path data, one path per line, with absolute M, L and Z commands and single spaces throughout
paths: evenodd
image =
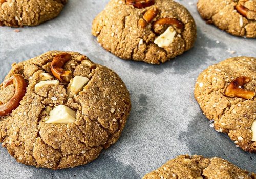
M 193 17 L 171 0 L 111 0 L 94 19 L 100 45 L 124 60 L 160 64 L 191 49 Z

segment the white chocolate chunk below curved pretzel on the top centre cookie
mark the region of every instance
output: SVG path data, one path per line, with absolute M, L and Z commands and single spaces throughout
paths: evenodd
M 167 47 L 173 43 L 175 34 L 176 31 L 170 26 L 164 33 L 155 39 L 154 43 L 161 48 Z

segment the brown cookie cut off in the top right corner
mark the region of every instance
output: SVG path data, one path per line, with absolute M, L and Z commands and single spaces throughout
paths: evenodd
M 255 0 L 198 0 L 197 9 L 207 23 L 221 30 L 256 38 Z

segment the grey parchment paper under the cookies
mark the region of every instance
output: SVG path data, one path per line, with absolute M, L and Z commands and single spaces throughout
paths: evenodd
M 77 51 L 117 72 L 131 93 L 132 111 L 118 140 L 95 161 L 52 171 L 17 163 L 0 147 L 0 178 L 141 178 L 180 154 L 219 156 L 256 172 L 256 154 L 216 132 L 193 96 L 199 73 L 234 56 L 256 57 L 255 39 L 231 36 L 207 25 L 196 0 L 181 0 L 197 24 L 190 51 L 161 65 L 124 61 L 103 50 L 91 35 L 94 17 L 107 0 L 70 0 L 59 17 L 37 27 L 0 27 L 0 80 L 14 62 L 50 50 Z

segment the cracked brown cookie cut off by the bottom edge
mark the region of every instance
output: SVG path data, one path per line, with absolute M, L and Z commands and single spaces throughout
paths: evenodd
M 256 175 L 238 168 L 221 158 L 180 155 L 168 161 L 155 171 L 146 174 L 143 179 L 254 179 Z

